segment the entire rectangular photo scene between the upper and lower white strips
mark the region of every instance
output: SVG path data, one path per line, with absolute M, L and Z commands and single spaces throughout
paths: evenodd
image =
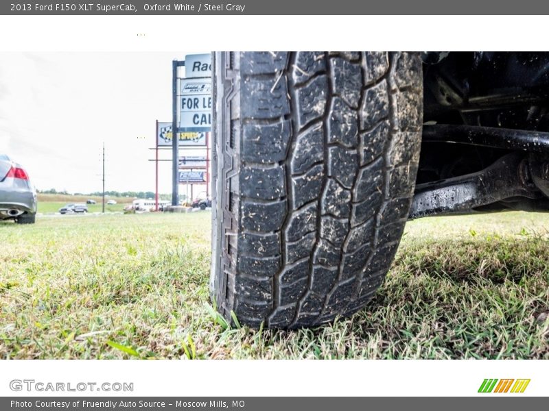
M 543 52 L 1 52 L 0 358 L 549 359 L 548 96 Z

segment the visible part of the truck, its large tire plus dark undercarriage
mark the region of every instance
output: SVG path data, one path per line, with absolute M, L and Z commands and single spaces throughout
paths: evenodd
M 361 310 L 406 221 L 549 212 L 549 53 L 219 52 L 212 74 L 210 284 L 228 321 Z

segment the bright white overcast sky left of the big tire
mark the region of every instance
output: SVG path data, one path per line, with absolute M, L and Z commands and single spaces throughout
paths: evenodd
M 184 58 L 0 53 L 0 152 L 23 164 L 38 189 L 93 192 L 101 190 L 105 142 L 106 189 L 154 191 L 148 148 L 156 119 L 171 121 L 172 60 Z M 160 163 L 160 192 L 172 191 L 170 170 Z

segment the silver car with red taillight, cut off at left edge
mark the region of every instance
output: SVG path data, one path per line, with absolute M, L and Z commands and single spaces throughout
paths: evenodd
M 36 218 L 36 188 L 20 164 L 0 153 L 0 220 L 32 224 Z

